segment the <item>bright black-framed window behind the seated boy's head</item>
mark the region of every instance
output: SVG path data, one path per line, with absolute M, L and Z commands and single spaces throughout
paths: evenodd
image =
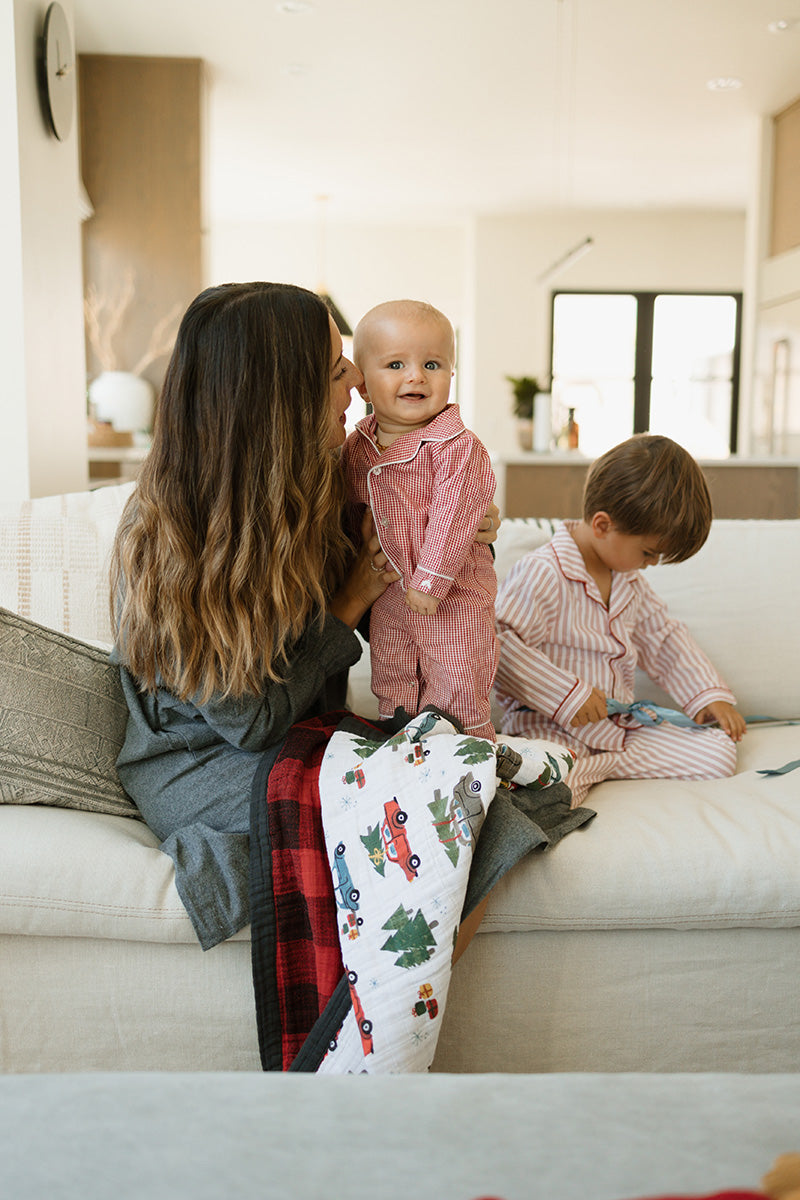
M 579 449 L 664 433 L 698 458 L 736 449 L 741 294 L 555 292 L 554 426 L 569 409 Z

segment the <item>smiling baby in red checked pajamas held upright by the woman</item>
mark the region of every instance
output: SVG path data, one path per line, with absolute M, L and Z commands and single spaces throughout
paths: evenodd
M 449 404 L 456 342 L 438 308 L 395 300 L 356 326 L 353 358 L 369 416 L 342 461 L 351 499 L 372 509 L 401 578 L 372 608 L 372 690 L 381 718 L 434 706 L 494 739 L 497 581 L 475 528 L 494 496 L 489 456 Z

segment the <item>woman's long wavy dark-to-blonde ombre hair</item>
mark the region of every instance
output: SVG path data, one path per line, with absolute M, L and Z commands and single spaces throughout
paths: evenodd
M 305 288 L 228 283 L 190 305 L 112 563 L 119 653 L 144 691 L 258 695 L 321 625 L 350 550 L 331 368 Z

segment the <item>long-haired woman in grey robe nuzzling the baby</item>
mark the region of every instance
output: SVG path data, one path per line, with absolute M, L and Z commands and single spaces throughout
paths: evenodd
M 344 706 L 355 626 L 397 578 L 354 554 L 333 451 L 350 389 L 323 301 L 231 283 L 186 312 L 114 547 L 122 785 L 175 863 L 204 949 L 249 919 L 249 793 L 300 718 Z M 479 538 L 495 536 L 497 509 Z

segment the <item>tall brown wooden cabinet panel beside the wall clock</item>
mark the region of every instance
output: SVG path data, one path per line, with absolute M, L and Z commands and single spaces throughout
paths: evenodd
M 89 378 L 131 371 L 157 396 L 180 316 L 203 286 L 203 64 L 82 54 L 78 67 L 94 209 L 83 224 L 84 282 L 100 325 L 88 338 Z

